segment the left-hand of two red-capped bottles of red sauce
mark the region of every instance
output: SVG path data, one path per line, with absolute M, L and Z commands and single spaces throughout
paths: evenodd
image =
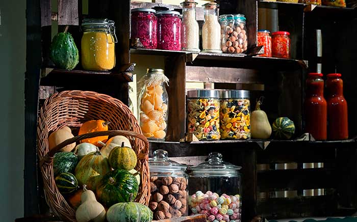
M 309 73 L 306 80 L 305 130 L 318 141 L 327 138 L 327 103 L 323 97 L 322 73 Z

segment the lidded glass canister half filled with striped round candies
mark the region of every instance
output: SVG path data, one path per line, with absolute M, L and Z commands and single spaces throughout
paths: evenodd
M 189 208 L 205 214 L 209 221 L 241 221 L 240 166 L 222 161 L 222 154 L 210 153 L 208 161 L 191 167 Z

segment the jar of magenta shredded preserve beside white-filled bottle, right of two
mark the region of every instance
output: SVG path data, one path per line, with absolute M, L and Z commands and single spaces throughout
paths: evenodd
M 158 16 L 158 49 L 181 50 L 181 18 L 176 11 L 160 11 Z

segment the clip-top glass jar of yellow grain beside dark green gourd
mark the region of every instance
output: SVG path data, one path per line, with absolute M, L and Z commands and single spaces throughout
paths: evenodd
M 114 21 L 86 18 L 82 21 L 82 67 L 90 71 L 106 71 L 115 66 L 117 43 Z

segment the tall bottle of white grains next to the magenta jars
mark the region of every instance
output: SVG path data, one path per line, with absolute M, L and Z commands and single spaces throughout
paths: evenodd
M 186 0 L 182 6 L 181 48 L 183 51 L 199 52 L 199 25 L 196 21 L 196 5 L 193 0 Z

